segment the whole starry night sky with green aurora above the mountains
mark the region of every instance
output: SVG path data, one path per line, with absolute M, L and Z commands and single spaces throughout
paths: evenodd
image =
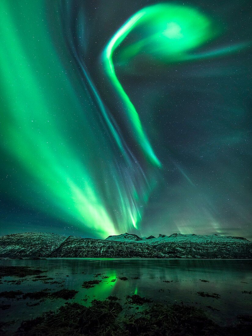
M 0 10 L 1 234 L 252 238 L 250 1 Z

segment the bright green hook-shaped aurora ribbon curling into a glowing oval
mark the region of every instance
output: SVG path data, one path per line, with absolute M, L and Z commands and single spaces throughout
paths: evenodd
M 167 62 L 184 60 L 184 51 L 191 50 L 214 36 L 210 20 L 197 10 L 170 4 L 159 4 L 146 7 L 134 14 L 112 37 L 103 53 L 106 73 L 112 81 L 118 95 L 124 102 L 128 115 L 128 122 L 132 134 L 139 142 L 148 159 L 157 166 L 161 166 L 159 159 L 153 152 L 144 134 L 139 116 L 117 79 L 113 65 L 113 54 L 127 35 L 138 29 L 141 40 L 123 49 L 122 58 L 129 60 L 139 53 L 148 53 L 153 57 L 160 57 Z

